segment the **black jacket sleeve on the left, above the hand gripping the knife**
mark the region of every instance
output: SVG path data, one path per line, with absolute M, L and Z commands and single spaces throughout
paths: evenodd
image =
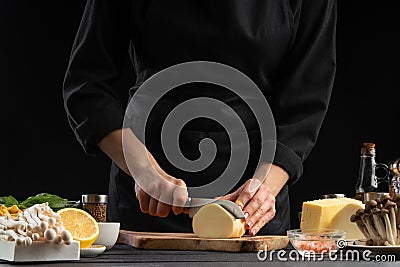
M 64 79 L 68 121 L 84 150 L 122 127 L 124 108 L 113 90 L 129 48 L 130 1 L 88 0 Z

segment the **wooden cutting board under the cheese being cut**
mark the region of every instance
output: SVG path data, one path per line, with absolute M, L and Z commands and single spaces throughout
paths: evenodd
M 250 252 L 285 248 L 287 236 L 243 236 L 230 239 L 199 238 L 190 233 L 150 233 L 120 230 L 118 243 L 139 249 L 214 250 Z

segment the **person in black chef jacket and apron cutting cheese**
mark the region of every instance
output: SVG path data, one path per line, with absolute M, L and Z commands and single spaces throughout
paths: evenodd
M 135 188 L 121 140 L 124 132 L 133 147 L 150 153 L 150 162 L 141 155 L 135 158 L 135 175 L 151 175 L 180 188 L 209 182 L 221 173 L 229 154 L 219 153 L 206 170 L 187 173 L 166 160 L 157 141 L 160 118 L 187 99 L 207 96 L 230 103 L 252 133 L 248 168 L 223 198 L 243 208 L 251 235 L 285 234 L 290 228 L 288 187 L 301 176 L 302 162 L 316 142 L 328 108 L 336 69 L 335 32 L 335 0 L 88 0 L 63 96 L 69 123 L 85 152 L 103 151 L 113 161 L 108 219 L 136 231 L 192 231 L 190 219 L 182 213 L 186 191 L 171 189 L 173 204 L 168 205 Z M 148 122 L 154 142 L 143 145 L 132 131 L 123 129 L 125 110 L 112 83 L 128 51 L 136 74 L 130 96 L 151 75 L 189 61 L 219 62 L 250 77 L 267 99 L 276 123 L 269 173 L 263 172 L 267 165 L 254 164 L 260 146 L 254 117 L 222 87 L 188 84 L 161 99 Z M 195 147 L 205 136 L 215 136 L 217 148 L 225 150 L 224 129 L 213 123 L 198 119 L 185 125 L 183 132 L 190 134 L 183 133 L 181 148 L 188 158 L 196 158 Z M 252 178 L 260 179 L 257 175 L 265 175 L 263 183 L 250 190 Z

